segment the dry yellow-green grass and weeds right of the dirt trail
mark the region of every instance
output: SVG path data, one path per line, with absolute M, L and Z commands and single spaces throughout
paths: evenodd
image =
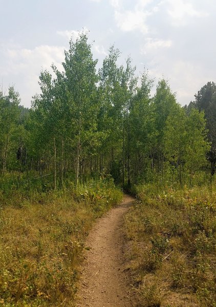
M 146 307 L 216 306 L 216 192 L 136 187 L 128 268 Z

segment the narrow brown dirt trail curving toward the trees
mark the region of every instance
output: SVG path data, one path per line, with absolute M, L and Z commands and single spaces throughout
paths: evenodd
M 88 236 L 77 306 L 135 306 L 134 294 L 123 271 L 123 216 L 134 199 L 123 202 L 96 223 Z

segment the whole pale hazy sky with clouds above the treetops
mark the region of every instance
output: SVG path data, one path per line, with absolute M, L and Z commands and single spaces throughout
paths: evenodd
M 0 0 L 0 89 L 14 85 L 30 107 L 42 70 L 61 71 L 64 50 L 89 31 L 101 67 L 111 45 L 137 74 L 168 80 L 182 105 L 216 81 L 215 0 Z M 153 89 L 153 94 L 154 90 Z

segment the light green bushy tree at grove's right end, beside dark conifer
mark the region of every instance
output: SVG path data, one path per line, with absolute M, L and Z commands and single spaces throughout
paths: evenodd
M 169 162 L 169 180 L 179 181 L 181 185 L 184 181 L 189 181 L 192 185 L 196 171 L 207 165 L 206 153 L 209 149 L 204 114 L 192 109 L 187 116 L 185 110 L 176 105 L 167 118 L 165 129 L 165 157 Z

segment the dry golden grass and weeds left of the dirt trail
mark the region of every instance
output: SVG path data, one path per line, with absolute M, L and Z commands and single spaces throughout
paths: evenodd
M 8 198 L 8 195 L 7 195 Z M 112 182 L 0 195 L 0 306 L 71 306 L 84 237 L 120 202 Z

